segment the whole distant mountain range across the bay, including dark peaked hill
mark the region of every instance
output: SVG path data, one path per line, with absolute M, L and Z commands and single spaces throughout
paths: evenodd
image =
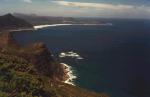
M 100 19 L 38 16 L 36 14 L 13 13 L 0 16 L 0 31 L 33 29 L 35 25 L 50 24 L 101 24 Z

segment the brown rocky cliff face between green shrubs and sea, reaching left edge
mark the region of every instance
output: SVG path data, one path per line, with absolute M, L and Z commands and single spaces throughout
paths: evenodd
M 17 45 L 11 33 L 0 35 L 0 53 L 16 55 L 26 59 L 39 74 L 49 76 L 57 81 L 63 80 L 63 66 L 57 63 L 43 43 L 35 43 L 25 48 Z

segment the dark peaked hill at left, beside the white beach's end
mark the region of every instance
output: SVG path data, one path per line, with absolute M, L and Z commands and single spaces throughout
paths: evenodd
M 0 16 L 0 31 L 20 29 L 33 29 L 33 26 L 27 21 L 15 17 L 12 14 Z

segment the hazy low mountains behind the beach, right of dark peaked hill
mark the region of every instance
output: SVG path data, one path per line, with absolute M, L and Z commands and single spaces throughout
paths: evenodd
M 52 16 L 38 16 L 36 14 L 21 14 L 21 13 L 14 13 L 13 15 L 30 22 L 32 25 L 102 23 L 100 19 L 92 19 L 92 18 L 52 17 Z

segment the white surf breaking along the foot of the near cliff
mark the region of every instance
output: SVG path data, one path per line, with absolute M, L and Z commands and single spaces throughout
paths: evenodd
M 77 76 L 74 75 L 72 67 L 65 63 L 60 63 L 60 64 L 64 66 L 64 71 L 66 72 L 66 76 L 67 76 L 65 81 L 63 82 L 75 86 L 73 80 L 76 79 Z

